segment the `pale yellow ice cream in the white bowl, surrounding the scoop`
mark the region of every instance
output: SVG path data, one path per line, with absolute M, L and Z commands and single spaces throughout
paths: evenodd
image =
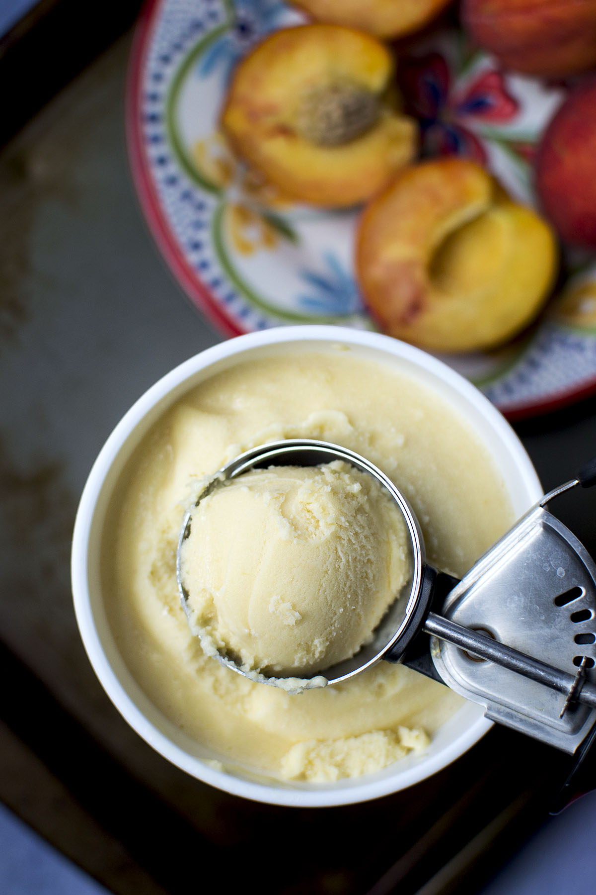
M 164 412 L 122 471 L 104 527 L 102 588 L 154 723 L 236 772 L 356 777 L 424 749 L 463 701 L 389 662 L 290 695 L 206 655 L 180 606 L 176 546 L 198 482 L 282 438 L 331 441 L 379 466 L 414 508 L 428 561 L 454 575 L 504 533 L 512 508 L 489 449 L 452 406 L 399 361 L 341 346 L 272 346 L 212 375 Z

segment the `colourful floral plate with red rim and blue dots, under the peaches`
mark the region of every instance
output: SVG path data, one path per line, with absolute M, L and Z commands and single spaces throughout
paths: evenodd
M 231 156 L 218 129 L 234 65 L 305 21 L 279 0 L 149 0 L 130 64 L 128 131 L 139 198 L 190 300 L 225 335 L 291 323 L 374 328 L 354 278 L 358 209 L 292 205 Z M 457 153 L 534 204 L 533 151 L 565 87 L 507 74 L 441 30 L 407 49 L 400 81 L 424 157 Z M 596 391 L 596 256 L 571 257 L 558 295 L 494 352 L 441 355 L 511 419 Z

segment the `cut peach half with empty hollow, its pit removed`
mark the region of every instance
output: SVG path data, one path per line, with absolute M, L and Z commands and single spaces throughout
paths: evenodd
M 550 292 L 555 237 L 481 166 L 410 166 L 365 209 L 357 278 L 391 336 L 429 351 L 495 347 L 527 326 Z

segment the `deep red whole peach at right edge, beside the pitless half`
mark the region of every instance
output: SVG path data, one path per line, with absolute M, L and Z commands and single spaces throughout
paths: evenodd
M 536 156 L 544 213 L 568 243 L 596 247 L 596 78 L 572 90 Z

